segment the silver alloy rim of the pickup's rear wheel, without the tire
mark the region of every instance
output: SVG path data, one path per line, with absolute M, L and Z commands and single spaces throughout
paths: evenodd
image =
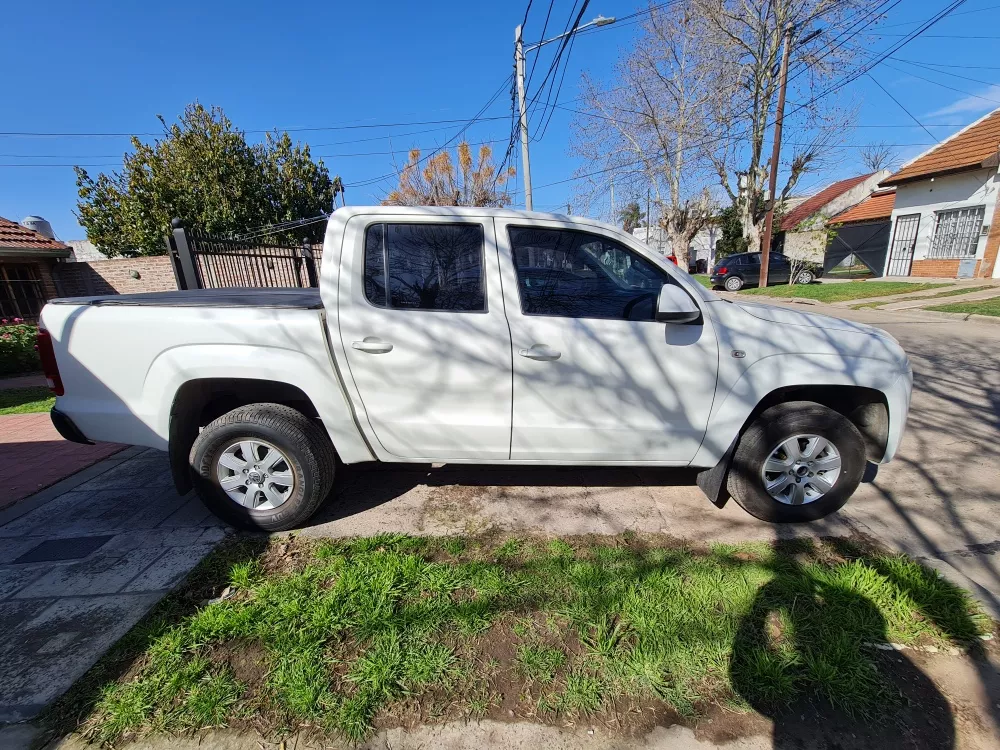
M 223 450 L 216 476 L 229 499 L 249 510 L 274 510 L 295 491 L 288 458 L 263 440 L 240 440 Z

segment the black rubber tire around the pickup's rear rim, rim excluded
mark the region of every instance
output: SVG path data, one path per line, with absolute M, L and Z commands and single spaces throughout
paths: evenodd
M 261 440 L 287 457 L 295 477 L 292 494 L 276 508 L 251 510 L 238 504 L 219 485 L 218 460 L 240 440 Z M 333 487 L 336 452 L 319 424 L 281 404 L 249 404 L 209 423 L 191 446 L 195 490 L 206 507 L 233 526 L 287 531 L 302 526 Z

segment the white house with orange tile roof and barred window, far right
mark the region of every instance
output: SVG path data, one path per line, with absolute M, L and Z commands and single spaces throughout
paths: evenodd
M 1000 109 L 882 180 L 895 187 L 886 276 L 998 278 Z

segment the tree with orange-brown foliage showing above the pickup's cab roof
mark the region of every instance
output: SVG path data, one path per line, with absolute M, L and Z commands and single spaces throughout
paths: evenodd
M 382 201 L 385 206 L 493 206 L 510 203 L 510 194 L 502 186 L 515 172 L 511 167 L 497 174 L 493 150 L 479 147 L 478 163 L 464 141 L 458 144 L 458 170 L 447 151 L 431 156 L 426 162 L 420 149 L 410 151 L 410 158 L 399 174 L 399 187 Z

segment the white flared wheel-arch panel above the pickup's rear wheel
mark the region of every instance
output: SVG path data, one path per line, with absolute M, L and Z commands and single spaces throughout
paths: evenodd
M 170 434 L 170 412 L 180 387 L 192 380 L 243 378 L 293 385 L 312 401 L 334 447 L 345 463 L 372 455 L 354 422 L 332 365 L 293 349 L 244 344 L 193 344 L 168 349 L 153 360 L 142 387 L 145 421 L 163 439 Z

